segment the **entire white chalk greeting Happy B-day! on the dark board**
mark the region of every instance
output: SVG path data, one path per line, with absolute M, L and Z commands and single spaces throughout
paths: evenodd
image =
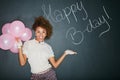
M 70 24 L 71 16 L 74 18 L 75 22 L 78 22 L 78 18 L 79 18 L 78 16 L 81 16 L 81 19 L 83 22 L 87 22 L 85 29 L 83 31 L 76 30 L 75 27 L 70 27 L 67 30 L 66 39 L 71 40 L 74 45 L 79 45 L 84 41 L 85 32 L 91 33 L 94 30 L 96 30 L 98 27 L 102 27 L 103 24 L 107 26 L 105 26 L 105 30 L 103 30 L 98 35 L 99 37 L 101 37 L 102 35 L 104 35 L 110 30 L 110 24 L 108 23 L 108 20 L 111 20 L 111 18 L 108 15 L 108 12 L 106 11 L 104 6 L 102 6 L 102 9 L 103 9 L 104 15 L 102 14 L 96 19 L 91 19 L 89 18 L 90 15 L 88 15 L 88 12 L 85 9 L 82 1 L 71 4 L 70 6 L 67 6 L 61 10 L 59 9 L 52 10 L 52 7 L 50 4 L 48 5 L 48 7 L 46 7 L 44 4 L 42 5 L 42 11 L 44 16 L 47 19 L 52 20 L 53 22 L 57 23 L 63 20 L 67 20 L 67 23 Z M 80 15 L 76 13 L 80 13 Z

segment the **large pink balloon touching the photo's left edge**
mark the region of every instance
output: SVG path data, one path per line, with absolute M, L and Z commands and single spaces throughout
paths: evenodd
M 10 49 L 15 42 L 15 38 L 10 34 L 3 34 L 0 36 L 0 45 L 1 49 L 8 50 Z

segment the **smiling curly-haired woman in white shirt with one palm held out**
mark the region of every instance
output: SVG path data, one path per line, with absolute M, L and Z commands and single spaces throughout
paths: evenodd
M 45 39 L 52 35 L 52 26 L 48 20 L 40 16 L 36 18 L 32 29 L 35 31 L 35 39 L 22 42 L 18 40 L 19 62 L 24 66 L 28 60 L 31 67 L 31 80 L 57 80 L 55 71 L 68 54 L 75 54 L 74 51 L 66 50 L 64 54 L 55 60 L 54 52 Z

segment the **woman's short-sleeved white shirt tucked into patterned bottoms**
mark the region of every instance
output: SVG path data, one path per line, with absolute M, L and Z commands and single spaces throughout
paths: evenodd
M 32 73 L 39 73 L 52 67 L 48 59 L 54 56 L 54 52 L 45 42 L 39 43 L 35 39 L 25 42 L 23 54 L 28 58 Z

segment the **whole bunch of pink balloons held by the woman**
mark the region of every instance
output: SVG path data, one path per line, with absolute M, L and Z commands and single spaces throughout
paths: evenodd
M 2 26 L 2 35 L 0 35 L 0 48 L 10 50 L 12 53 L 18 53 L 17 40 L 27 41 L 32 37 L 32 31 L 25 27 L 20 20 L 6 23 Z

